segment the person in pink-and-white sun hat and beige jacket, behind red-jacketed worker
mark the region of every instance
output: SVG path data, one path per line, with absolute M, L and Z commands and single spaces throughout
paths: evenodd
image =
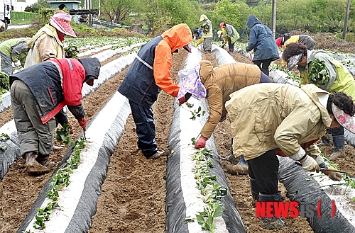
M 30 50 L 28 51 L 24 68 L 49 59 L 65 58 L 64 45 L 62 44 L 64 35 L 77 37 L 70 25 L 71 19 L 72 16 L 65 11 L 57 11 L 50 17 L 49 23 L 40 28 L 29 40 L 28 47 Z M 60 125 L 69 124 L 72 127 L 64 110 L 60 110 L 55 119 Z M 70 133 L 74 132 L 71 131 Z

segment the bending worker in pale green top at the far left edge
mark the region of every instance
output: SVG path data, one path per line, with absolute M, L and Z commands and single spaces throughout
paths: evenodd
M 30 48 L 27 45 L 28 38 L 16 38 L 5 40 L 0 44 L 0 72 L 7 75 L 13 73 L 12 63 L 25 67 L 26 56 Z

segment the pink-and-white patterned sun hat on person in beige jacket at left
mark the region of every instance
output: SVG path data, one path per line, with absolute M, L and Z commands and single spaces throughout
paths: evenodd
M 70 25 L 71 20 L 72 16 L 70 16 L 69 13 L 64 11 L 57 11 L 53 16 L 50 17 L 49 23 L 50 25 L 53 25 L 53 27 L 57 28 L 57 30 L 59 30 L 61 33 L 76 38 L 77 35 L 75 35 L 75 32 L 72 30 L 72 26 Z

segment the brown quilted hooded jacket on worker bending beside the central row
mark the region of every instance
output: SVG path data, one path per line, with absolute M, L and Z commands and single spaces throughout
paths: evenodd
M 214 68 L 206 60 L 200 64 L 201 82 L 206 88 L 209 106 L 209 117 L 202 127 L 201 135 L 209 138 L 221 119 L 222 110 L 226 110 L 224 104 L 230 99 L 229 95 L 245 86 L 258 84 L 261 71 L 255 64 L 230 63 Z

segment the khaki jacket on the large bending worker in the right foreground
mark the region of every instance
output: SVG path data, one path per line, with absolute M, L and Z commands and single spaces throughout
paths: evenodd
M 313 84 L 299 89 L 289 84 L 256 84 L 231 94 L 226 102 L 233 152 L 246 160 L 280 148 L 290 157 L 300 144 L 325 134 L 332 119 L 317 93 L 326 93 Z M 313 158 L 320 154 L 315 144 L 305 149 Z

